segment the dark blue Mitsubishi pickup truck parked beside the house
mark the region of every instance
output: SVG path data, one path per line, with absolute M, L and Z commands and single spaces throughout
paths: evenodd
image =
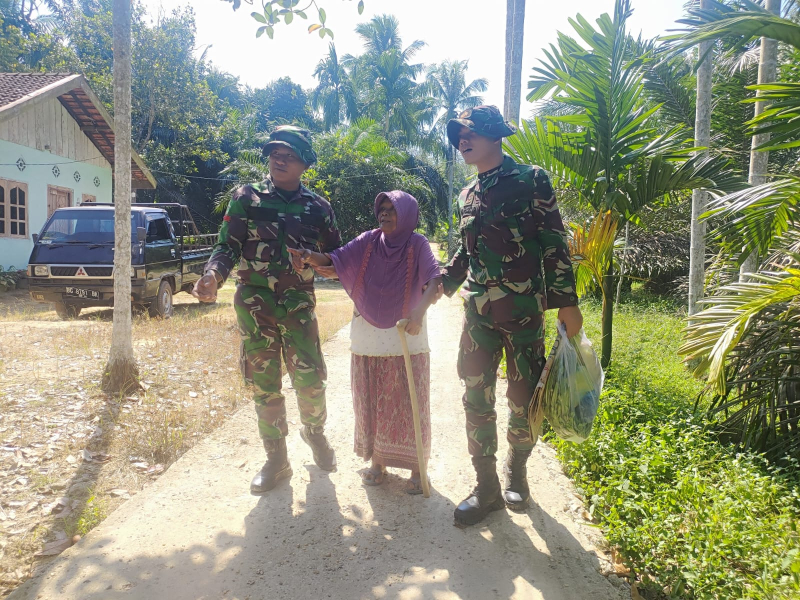
M 172 315 L 172 296 L 203 275 L 216 236 L 201 234 L 182 204 L 131 207 L 131 301 L 153 317 Z M 114 205 L 56 210 L 34 235 L 28 261 L 31 298 L 62 319 L 114 305 Z

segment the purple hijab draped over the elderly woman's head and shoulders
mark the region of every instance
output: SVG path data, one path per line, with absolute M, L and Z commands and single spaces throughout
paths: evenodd
M 379 329 L 407 319 L 422 300 L 422 286 L 439 277 L 439 264 L 425 236 L 414 233 L 419 223 L 416 198 L 395 190 L 375 198 L 375 217 L 385 199 L 397 211 L 397 227 L 385 235 L 366 231 L 330 253 L 336 274 L 359 314 Z

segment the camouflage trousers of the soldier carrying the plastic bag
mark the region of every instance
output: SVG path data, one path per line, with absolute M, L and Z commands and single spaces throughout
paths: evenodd
M 531 439 L 528 407 L 545 362 L 544 317 L 540 314 L 524 322 L 494 323 L 491 315 L 480 315 L 467 304 L 458 351 L 458 376 L 466 385 L 462 401 L 472 456 L 492 456 L 497 452 L 495 384 L 504 350 L 508 443 L 528 450 L 536 444 Z

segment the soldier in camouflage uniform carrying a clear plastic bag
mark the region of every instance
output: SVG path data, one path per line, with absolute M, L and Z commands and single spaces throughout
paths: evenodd
M 461 246 L 443 270 L 451 296 L 466 280 L 464 330 L 458 354 L 469 453 L 478 485 L 455 510 L 456 522 L 472 525 L 504 505 L 528 506 L 526 464 L 531 439 L 528 407 L 544 366 L 544 311 L 574 335 L 581 327 L 575 278 L 564 225 L 547 174 L 504 156 L 501 139 L 516 129 L 494 106 L 463 112 L 447 135 L 478 179 L 461 192 Z M 495 467 L 495 382 L 505 351 L 508 373 L 508 442 L 501 490 Z

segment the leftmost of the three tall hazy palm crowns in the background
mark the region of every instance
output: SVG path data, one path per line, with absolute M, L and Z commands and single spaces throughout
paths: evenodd
M 314 77 L 319 83 L 311 94 L 311 105 L 315 110 L 322 109 L 322 121 L 326 130 L 339 125 L 343 116 L 351 121 L 358 118 L 352 79 L 345 65 L 339 61 L 333 42 L 328 46 L 328 56 L 317 63 Z

